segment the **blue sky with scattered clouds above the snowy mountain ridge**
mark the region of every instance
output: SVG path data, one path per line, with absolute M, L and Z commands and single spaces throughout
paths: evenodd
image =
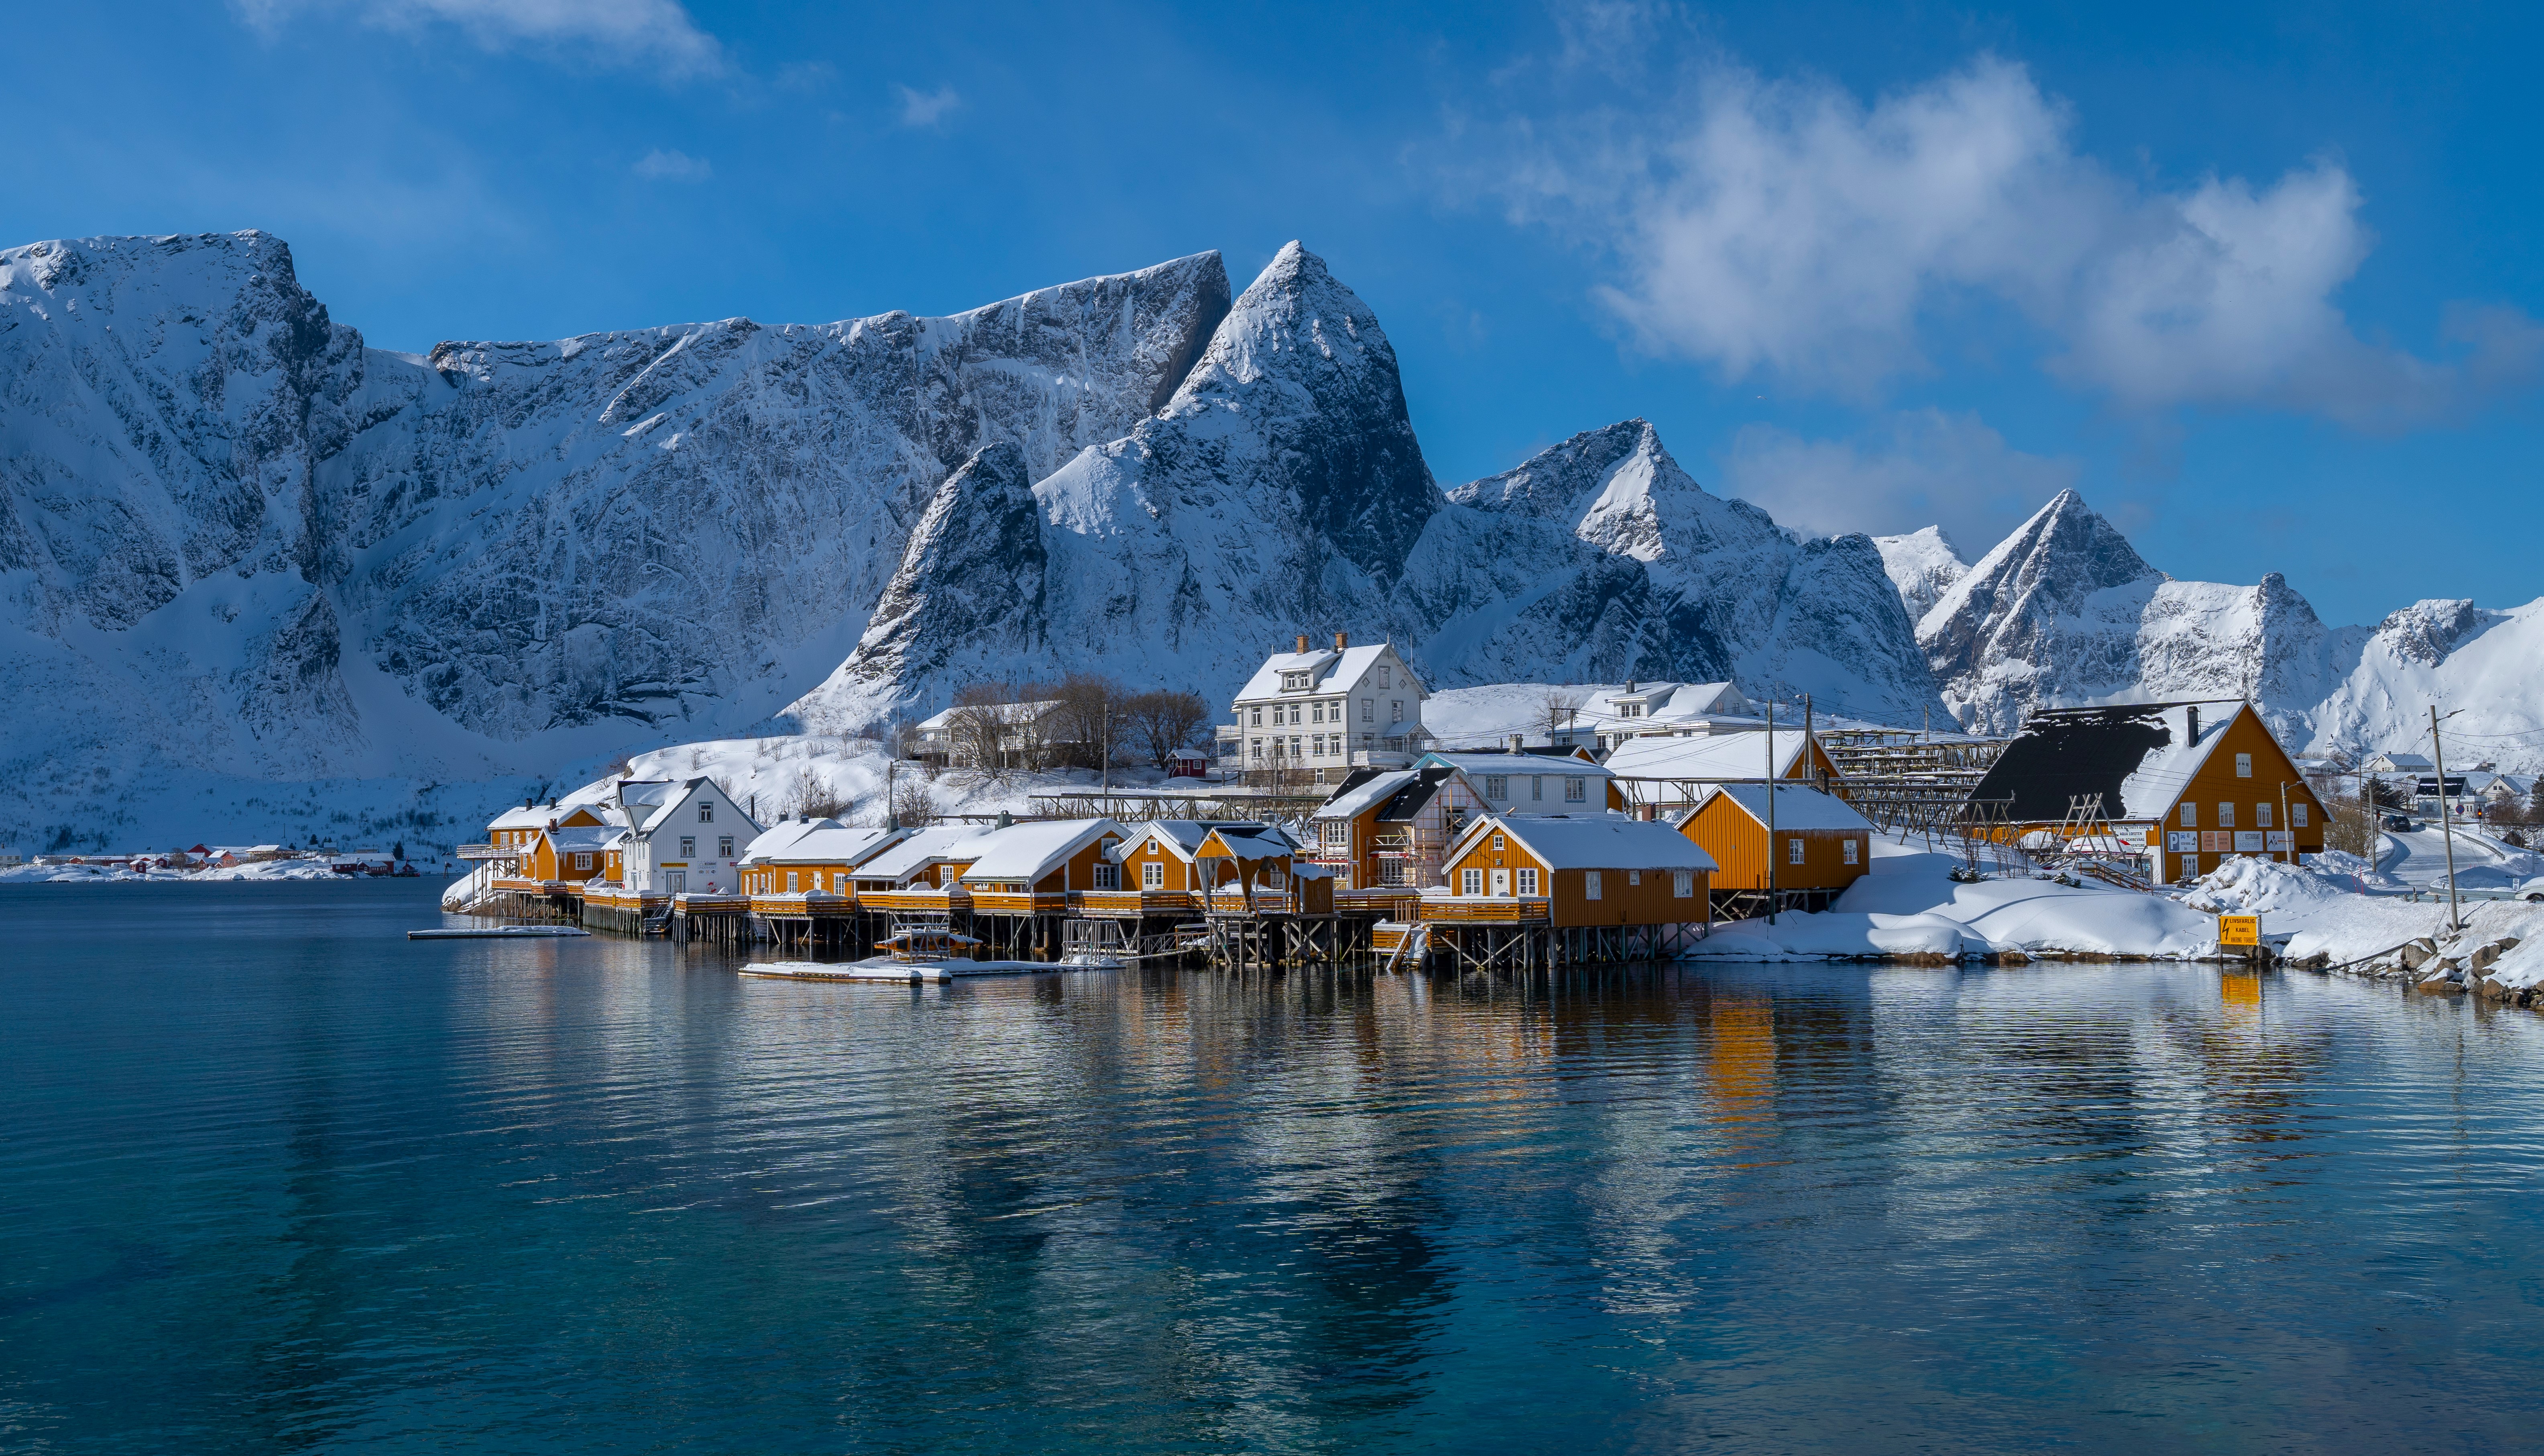
M 0 239 L 259 226 L 387 348 L 1297 236 L 1442 483 L 1633 414 L 1974 556 L 2076 485 L 2325 620 L 2544 592 L 2534 8 L 56 8 Z

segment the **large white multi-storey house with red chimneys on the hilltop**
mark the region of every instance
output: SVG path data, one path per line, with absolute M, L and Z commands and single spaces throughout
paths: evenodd
M 1353 648 L 1333 633 L 1333 648 L 1272 653 L 1236 694 L 1236 722 L 1219 727 L 1224 770 L 1313 772 L 1315 783 L 1341 783 L 1353 765 L 1402 767 L 1432 747 L 1422 729 L 1430 694 L 1389 643 Z

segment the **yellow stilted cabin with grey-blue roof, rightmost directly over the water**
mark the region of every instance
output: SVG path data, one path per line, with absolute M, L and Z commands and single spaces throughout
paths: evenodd
M 1715 861 L 1666 823 L 1511 813 L 1468 826 L 1445 869 L 1422 920 L 1605 927 L 1704 920 Z

